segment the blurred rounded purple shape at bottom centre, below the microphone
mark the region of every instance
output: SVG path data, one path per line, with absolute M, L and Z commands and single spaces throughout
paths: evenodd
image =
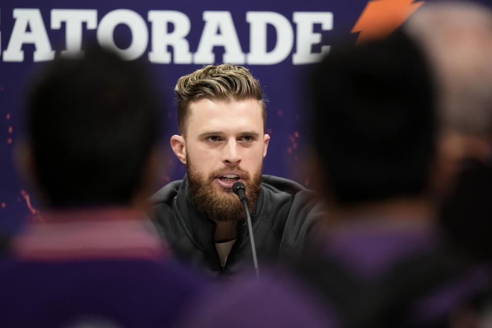
M 193 316 L 179 327 L 338 327 L 329 306 L 285 272 L 260 268 L 260 277 L 242 274 L 231 285 L 217 285 L 216 295 L 198 302 Z

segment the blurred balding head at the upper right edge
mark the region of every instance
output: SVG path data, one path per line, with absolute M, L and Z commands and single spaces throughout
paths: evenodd
M 423 5 L 404 25 L 428 54 L 437 77 L 440 151 L 454 161 L 490 159 L 492 11 L 470 2 Z

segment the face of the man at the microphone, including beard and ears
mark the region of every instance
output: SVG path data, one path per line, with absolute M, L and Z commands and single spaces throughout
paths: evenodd
M 200 99 L 190 105 L 186 137 L 171 139 L 176 155 L 187 165 L 190 196 L 212 219 L 238 218 L 242 204 L 232 193 L 236 181 L 244 183 L 254 207 L 270 140 L 261 111 L 255 99 Z

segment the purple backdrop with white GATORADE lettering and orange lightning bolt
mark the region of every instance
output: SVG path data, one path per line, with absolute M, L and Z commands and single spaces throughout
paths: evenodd
M 380 17 L 411 14 L 414 0 L 3 0 L 0 3 L 0 231 L 39 219 L 39 200 L 19 178 L 14 149 L 30 76 L 55 54 L 80 53 L 92 41 L 128 60 L 147 60 L 166 107 L 162 149 L 177 133 L 176 80 L 203 65 L 234 63 L 260 80 L 271 135 L 264 173 L 309 187 L 304 160 L 308 99 L 305 73 L 341 37 L 364 39 Z M 482 1 L 489 5 L 490 1 Z M 404 18 L 387 27 L 391 33 Z M 383 33 L 384 34 L 384 33 Z M 70 108 L 67 108 L 70 110 Z M 57 142 L 53 138 L 53 142 Z M 185 167 L 168 151 L 155 188 L 182 178 Z M 76 174 L 76 172 L 74 172 Z M 77 188 L 77 186 L 73 186 Z

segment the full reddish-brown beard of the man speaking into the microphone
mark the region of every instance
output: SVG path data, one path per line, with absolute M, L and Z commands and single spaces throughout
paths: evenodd
M 244 206 L 239 197 L 231 188 L 222 188 L 215 185 L 214 180 L 225 171 L 239 171 L 243 175 L 248 197 L 248 208 L 250 213 L 256 210 L 256 200 L 261 191 L 261 173 L 263 162 L 253 174 L 253 177 L 239 167 L 227 167 L 212 172 L 208 178 L 201 175 L 193 168 L 190 159 L 187 158 L 187 176 L 189 182 L 188 194 L 195 203 L 198 210 L 206 214 L 213 221 L 235 222 L 246 218 Z

